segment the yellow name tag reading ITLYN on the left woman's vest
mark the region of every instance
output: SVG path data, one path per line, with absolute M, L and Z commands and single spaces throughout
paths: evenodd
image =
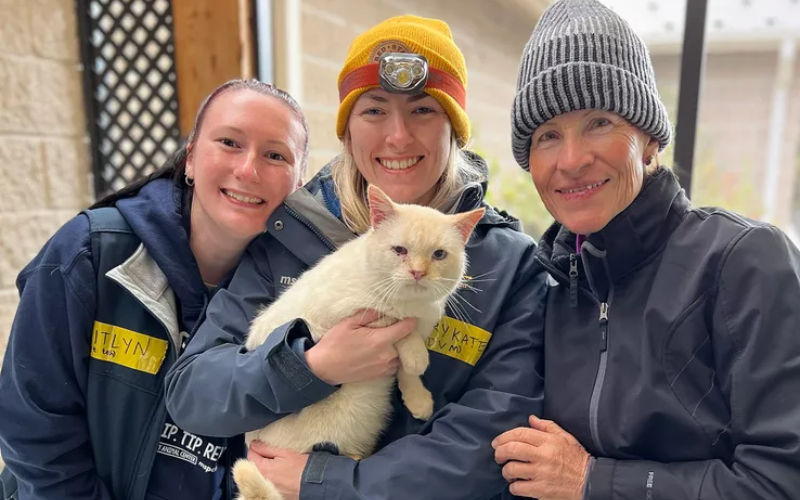
M 154 375 L 167 355 L 167 341 L 119 326 L 94 322 L 92 357 Z

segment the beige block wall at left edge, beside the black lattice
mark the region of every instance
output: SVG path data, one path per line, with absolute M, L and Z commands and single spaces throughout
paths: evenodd
M 19 270 L 91 197 L 74 0 L 0 0 L 0 353 Z

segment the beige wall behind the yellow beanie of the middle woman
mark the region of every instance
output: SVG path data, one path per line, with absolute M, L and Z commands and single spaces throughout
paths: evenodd
M 511 100 L 519 57 L 535 19 L 484 0 L 303 0 L 301 104 L 311 127 L 310 170 L 316 172 L 339 151 L 334 131 L 336 84 L 350 42 L 367 28 L 400 14 L 435 17 L 450 25 L 467 62 L 472 145 L 491 159 L 518 168 L 510 146 Z

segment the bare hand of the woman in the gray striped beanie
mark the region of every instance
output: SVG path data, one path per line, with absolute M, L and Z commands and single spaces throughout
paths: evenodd
M 495 460 L 514 495 L 539 500 L 581 500 L 589 453 L 553 421 L 531 415 L 531 427 L 518 427 L 492 441 Z

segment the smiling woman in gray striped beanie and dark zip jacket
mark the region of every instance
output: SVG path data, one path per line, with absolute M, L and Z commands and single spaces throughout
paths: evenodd
M 597 0 L 555 2 L 512 129 L 556 222 L 536 250 L 553 278 L 544 414 L 492 443 L 510 492 L 798 498 L 800 251 L 692 207 L 659 165 L 671 127 L 641 39 Z

